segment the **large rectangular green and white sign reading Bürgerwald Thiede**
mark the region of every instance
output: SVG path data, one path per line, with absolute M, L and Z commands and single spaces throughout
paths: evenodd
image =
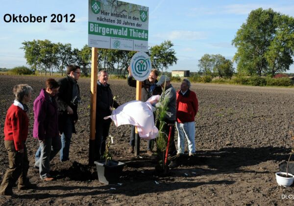
M 89 47 L 146 52 L 148 11 L 119 0 L 89 0 Z

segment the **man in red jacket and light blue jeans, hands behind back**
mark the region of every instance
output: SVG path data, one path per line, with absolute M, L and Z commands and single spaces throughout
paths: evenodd
M 198 100 L 195 92 L 190 90 L 191 83 L 183 79 L 181 90 L 176 93 L 176 122 L 178 131 L 177 154 L 185 152 L 185 138 L 188 141 L 189 156 L 194 155 L 195 148 L 195 116 L 198 111 Z

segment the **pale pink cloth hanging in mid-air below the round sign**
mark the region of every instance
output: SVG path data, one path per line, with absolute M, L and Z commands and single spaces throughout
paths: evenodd
M 137 127 L 138 134 L 141 138 L 155 139 L 158 136 L 158 129 L 154 125 L 152 105 L 148 100 L 146 103 L 141 101 L 124 103 L 113 110 L 112 115 L 104 117 L 104 119 L 111 118 L 117 127 L 128 124 L 134 125 Z

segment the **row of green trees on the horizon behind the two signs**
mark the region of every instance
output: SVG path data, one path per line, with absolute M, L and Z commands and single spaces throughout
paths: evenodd
M 63 72 L 67 65 L 76 64 L 81 67 L 83 75 L 88 76 L 89 65 L 91 64 L 91 49 L 85 45 L 81 50 L 72 49 L 71 44 L 52 43 L 49 40 L 33 40 L 22 43 L 21 48 L 25 51 L 25 59 L 33 71 Z M 172 49 L 171 41 L 164 41 L 160 45 L 148 48 L 148 55 L 151 58 L 152 66 L 161 71 L 167 70 L 169 66 L 176 63 L 175 51 Z M 98 68 L 107 70 L 109 74 L 116 73 L 118 76 L 125 75 L 130 60 L 135 52 L 99 49 Z

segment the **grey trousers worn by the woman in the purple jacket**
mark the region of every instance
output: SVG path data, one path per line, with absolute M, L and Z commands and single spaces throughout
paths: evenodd
M 35 167 L 39 167 L 40 178 L 50 177 L 50 161 L 60 151 L 60 137 L 48 138 L 44 142 L 39 140 L 40 147 L 35 154 Z

